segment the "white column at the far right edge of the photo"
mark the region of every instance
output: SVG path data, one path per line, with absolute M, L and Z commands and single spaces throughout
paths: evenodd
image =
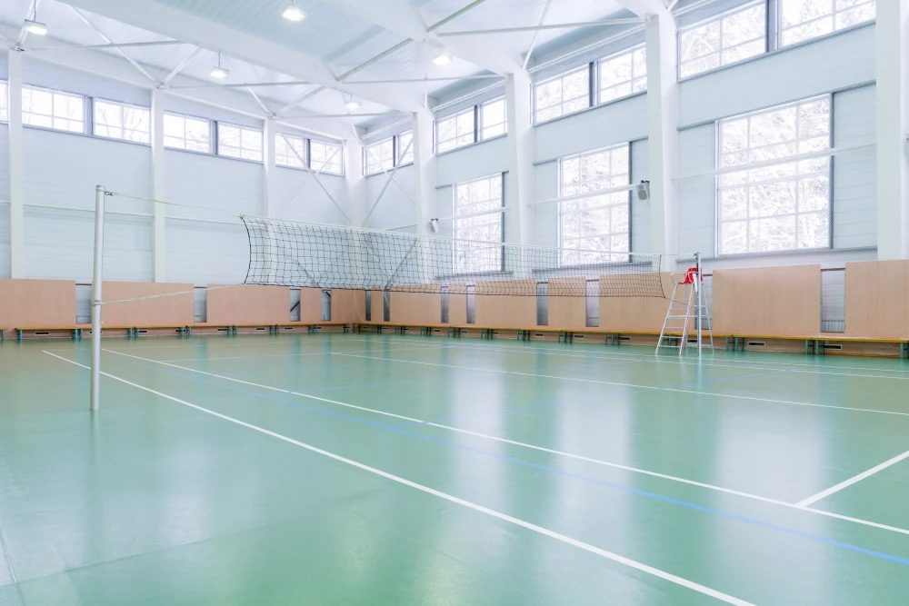
M 909 258 L 909 6 L 877 3 L 877 256 Z

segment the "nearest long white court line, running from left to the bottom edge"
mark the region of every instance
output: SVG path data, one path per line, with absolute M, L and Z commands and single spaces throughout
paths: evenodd
M 60 360 L 65 361 L 65 362 L 75 364 L 76 366 L 81 366 L 82 368 L 85 368 L 85 369 L 89 368 L 88 366 L 85 366 L 85 364 L 75 363 L 72 360 L 66 360 L 66 358 L 56 355 L 55 353 L 49 353 L 49 352 L 47 352 L 47 353 L 49 355 L 53 355 L 55 358 L 59 358 Z M 224 421 L 232 422 L 232 423 L 235 423 L 242 427 L 245 427 L 247 429 L 251 429 L 254 432 L 263 433 L 265 435 L 276 438 L 277 440 L 281 440 L 283 442 L 294 444 L 295 446 L 299 446 L 300 448 L 305 448 L 307 451 L 315 452 L 316 454 L 321 454 L 330 459 L 334 459 L 337 462 L 343 462 L 347 465 L 356 467 L 357 469 L 363 470 L 365 472 L 374 473 L 375 475 L 381 476 L 387 480 L 391 480 L 392 482 L 404 484 L 405 486 L 409 486 L 410 488 L 413 488 L 417 491 L 425 492 L 427 494 L 431 494 L 440 499 L 445 499 L 445 501 L 453 502 L 455 504 L 461 505 L 468 509 L 474 510 L 474 512 L 484 513 L 485 515 L 491 516 L 498 520 L 502 520 L 503 522 L 509 522 L 511 524 L 514 524 L 515 526 L 520 526 L 528 531 L 534 531 L 538 534 L 542 534 L 542 535 L 547 536 L 556 541 L 561 541 L 561 542 L 564 542 L 565 544 L 572 545 L 573 547 L 577 547 L 584 551 L 594 553 L 595 555 L 599 555 L 607 560 L 611 560 L 611 561 L 617 562 L 619 564 L 623 564 L 624 566 L 634 568 L 634 570 L 637 570 L 637 571 L 645 572 L 647 574 L 653 575 L 654 577 L 663 579 L 664 581 L 669 581 L 669 582 L 675 583 L 676 585 L 680 585 L 684 588 L 687 588 L 687 589 L 690 589 L 693 591 L 698 591 L 699 593 L 703 593 L 704 595 L 708 595 L 712 598 L 715 598 L 720 601 L 724 601 L 728 604 L 736 604 L 737 606 L 754 606 L 754 604 L 752 604 L 751 602 L 740 600 L 731 595 L 723 593 L 722 591 L 716 591 L 716 590 L 706 587 L 705 585 L 702 585 L 700 583 L 697 583 L 694 581 L 689 581 L 687 579 L 683 579 L 682 577 L 676 576 L 676 575 L 672 574 L 671 572 L 661 571 L 658 568 L 654 568 L 653 566 L 648 566 L 647 564 L 644 564 L 639 561 L 631 560 L 630 558 L 626 558 L 626 557 L 619 555 L 617 553 L 614 553 L 612 551 L 606 551 L 599 547 L 595 547 L 594 545 L 591 545 L 590 543 L 585 543 L 584 541 L 578 541 L 577 539 L 573 539 L 560 532 L 551 531 L 547 528 L 544 528 L 543 526 L 537 526 L 536 524 L 534 524 L 532 522 L 526 522 L 524 520 L 521 520 L 520 518 L 515 518 L 514 516 L 510 516 L 507 513 L 497 512 L 493 509 L 489 509 L 488 507 L 484 507 L 483 505 L 478 505 L 477 503 L 474 503 L 474 502 L 465 501 L 464 499 L 455 497 L 454 495 L 448 494 L 447 492 L 437 491 L 434 488 L 424 486 L 423 484 L 418 484 L 416 482 L 411 482 L 410 480 L 405 480 L 405 478 L 394 475 L 393 473 L 383 472 L 380 469 L 376 469 L 375 467 L 370 467 L 369 465 L 365 465 L 364 463 L 361 463 L 361 462 L 356 462 L 353 459 L 347 459 L 346 457 L 343 457 L 339 454 L 335 454 L 334 452 L 328 452 L 321 448 L 313 446 L 312 444 L 307 444 L 305 442 L 299 442 L 297 440 L 294 440 L 293 438 L 288 438 L 287 436 L 282 435 L 280 433 L 271 432 L 269 430 L 266 430 L 262 427 L 259 427 L 258 425 L 240 421 L 238 419 L 235 419 L 234 417 L 229 417 L 226 414 L 222 414 L 220 412 L 215 412 L 215 411 L 209 410 L 207 408 L 203 408 L 202 406 L 198 406 L 191 402 L 186 402 L 185 400 L 180 400 L 179 398 L 175 398 L 172 395 L 167 395 L 166 393 L 162 393 L 162 392 L 156 392 L 153 389 L 149 389 L 149 388 L 139 385 L 135 382 L 126 381 L 125 379 L 121 379 L 120 377 L 114 376 L 113 374 L 109 374 L 109 373 L 102 373 L 102 374 L 104 374 L 105 377 L 114 379 L 115 381 L 123 382 L 127 385 L 130 385 L 131 387 L 141 389 L 145 392 L 154 393 L 157 396 L 166 398 L 167 400 L 170 400 L 172 402 L 177 402 L 179 404 L 183 404 L 184 406 L 188 406 L 189 408 L 193 408 L 199 412 L 205 412 L 206 414 L 210 414 L 219 419 L 223 419 Z

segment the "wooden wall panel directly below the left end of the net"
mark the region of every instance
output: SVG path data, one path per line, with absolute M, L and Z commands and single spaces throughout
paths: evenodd
M 288 322 L 290 322 L 290 288 L 287 286 L 244 285 L 208 291 L 209 324 L 280 324 Z

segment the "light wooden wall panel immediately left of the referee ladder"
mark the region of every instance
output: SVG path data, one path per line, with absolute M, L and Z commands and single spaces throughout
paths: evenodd
M 673 293 L 671 273 L 663 273 L 661 297 L 600 297 L 599 330 L 610 333 L 660 333 Z M 604 275 L 600 277 L 600 293 L 634 292 L 632 275 Z M 624 284 L 625 282 L 629 282 Z M 553 326 L 552 320 L 549 322 Z

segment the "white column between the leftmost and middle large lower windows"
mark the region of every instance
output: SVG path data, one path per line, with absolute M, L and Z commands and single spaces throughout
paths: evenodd
M 534 243 L 534 127 L 530 120 L 530 75 L 515 72 L 505 77 L 508 117 L 508 180 L 505 184 L 505 240 Z M 510 217 L 510 220 L 509 220 Z

